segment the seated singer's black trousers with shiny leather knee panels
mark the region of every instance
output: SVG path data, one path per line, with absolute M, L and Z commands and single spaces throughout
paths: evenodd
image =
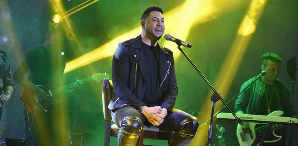
M 112 112 L 112 119 L 120 127 L 118 133 L 119 146 L 135 146 L 143 125 L 152 126 L 140 111 L 131 106 Z M 173 109 L 173 112 L 168 113 L 158 127 L 164 131 L 175 132 L 170 146 L 187 146 L 196 134 L 198 126 L 199 122 L 196 117 L 184 111 Z

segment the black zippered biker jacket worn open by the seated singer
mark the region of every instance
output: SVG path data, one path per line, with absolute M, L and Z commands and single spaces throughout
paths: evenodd
M 177 79 L 173 52 L 160 47 L 160 90 L 162 97 L 157 106 L 173 110 L 178 93 Z M 142 98 L 145 93 L 146 60 L 142 48 L 141 35 L 118 45 L 112 63 L 112 76 L 114 95 L 109 104 L 109 109 L 114 110 L 125 106 L 138 109 L 144 106 Z

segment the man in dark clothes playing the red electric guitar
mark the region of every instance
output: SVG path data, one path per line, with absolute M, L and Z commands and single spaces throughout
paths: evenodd
M 63 38 L 58 28 L 52 28 L 45 35 L 43 46 L 30 50 L 16 69 L 13 78 L 21 86 L 32 90 L 42 100 L 47 100 L 45 91 L 37 85 L 60 87 L 65 61 L 61 57 Z M 25 73 L 29 71 L 29 77 Z M 28 146 L 64 146 L 66 134 L 61 129 L 63 125 L 63 111 L 58 105 L 50 105 L 47 112 L 34 115 L 26 112 L 26 142 Z

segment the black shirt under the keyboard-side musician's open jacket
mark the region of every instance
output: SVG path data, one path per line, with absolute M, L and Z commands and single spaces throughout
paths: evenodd
M 261 107 L 260 107 L 258 115 L 268 115 L 268 111 L 267 111 L 268 105 L 270 108 L 270 113 L 278 110 L 277 96 L 273 89 L 274 85 L 264 84 L 263 87 L 265 87 L 265 90 L 264 90 Z M 267 99 L 266 99 L 266 95 L 267 95 Z M 270 104 L 270 100 L 271 100 L 271 104 Z M 268 102 L 268 105 L 267 105 L 267 102 Z

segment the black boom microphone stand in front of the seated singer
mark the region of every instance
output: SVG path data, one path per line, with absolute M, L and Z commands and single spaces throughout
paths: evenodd
M 219 93 L 216 91 L 216 89 L 214 89 L 214 87 L 212 86 L 212 84 L 207 80 L 207 78 L 204 76 L 204 74 L 199 70 L 199 68 L 197 68 L 197 66 L 194 64 L 193 61 L 191 61 L 191 59 L 188 57 L 188 55 L 183 51 L 183 49 L 180 47 L 181 46 L 181 41 L 176 39 L 175 43 L 178 45 L 178 49 L 179 51 L 182 52 L 182 54 L 186 57 L 186 59 L 190 62 L 190 64 L 194 67 L 194 69 L 200 74 L 200 76 L 205 80 L 205 82 L 208 84 L 208 86 L 213 90 L 213 94 L 211 95 L 211 118 L 210 118 L 210 125 L 209 125 L 209 130 L 208 130 L 208 144 L 207 146 L 211 146 L 211 137 L 212 137 L 212 124 L 213 124 L 213 114 L 214 114 L 214 108 L 215 108 L 215 103 L 218 100 L 221 100 L 221 102 L 226 105 L 226 107 L 228 108 L 228 110 L 232 113 L 232 115 L 235 117 L 236 121 L 240 124 L 243 125 L 243 122 L 240 120 L 239 117 L 237 117 L 235 115 L 235 113 L 231 110 L 231 108 L 226 104 L 225 100 L 223 100 L 221 98 L 221 95 L 219 95 Z

